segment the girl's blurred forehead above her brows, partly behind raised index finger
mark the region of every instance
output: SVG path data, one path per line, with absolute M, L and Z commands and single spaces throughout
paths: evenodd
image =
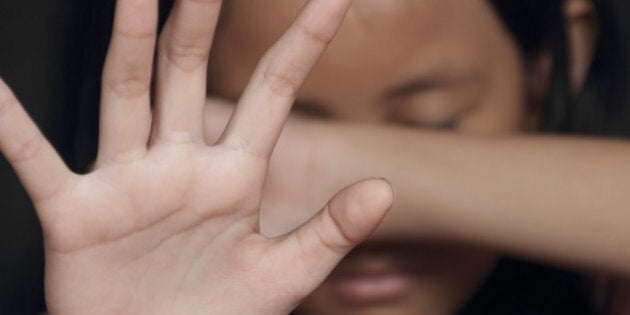
M 230 81 L 226 76 L 245 81 L 305 2 L 226 2 L 211 70 L 219 70 L 224 82 Z M 351 80 L 363 88 L 370 88 L 364 81 L 374 76 L 396 85 L 432 72 L 480 71 L 506 39 L 485 0 L 355 0 L 310 85 L 330 82 L 333 70 L 337 81 Z

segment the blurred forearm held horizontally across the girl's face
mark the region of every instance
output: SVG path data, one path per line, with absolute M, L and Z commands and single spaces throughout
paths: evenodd
M 377 237 L 465 241 L 630 274 L 630 144 L 334 129 L 330 174 L 395 187 Z

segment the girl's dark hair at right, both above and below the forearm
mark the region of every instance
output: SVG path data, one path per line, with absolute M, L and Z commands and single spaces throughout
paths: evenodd
M 490 0 L 531 65 L 543 52 L 553 58 L 541 108 L 544 133 L 630 136 L 630 59 L 624 0 L 594 0 L 599 38 L 584 85 L 571 91 L 563 0 Z M 568 270 L 503 259 L 460 312 L 470 314 L 596 314 L 591 280 Z

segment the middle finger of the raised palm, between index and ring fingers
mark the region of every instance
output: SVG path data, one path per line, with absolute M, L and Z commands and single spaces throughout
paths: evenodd
M 158 45 L 154 141 L 203 141 L 208 55 L 221 0 L 178 0 Z

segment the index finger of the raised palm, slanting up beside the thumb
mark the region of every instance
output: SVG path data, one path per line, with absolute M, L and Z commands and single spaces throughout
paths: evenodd
M 259 63 L 220 143 L 269 158 L 311 69 L 352 0 L 311 0 Z

